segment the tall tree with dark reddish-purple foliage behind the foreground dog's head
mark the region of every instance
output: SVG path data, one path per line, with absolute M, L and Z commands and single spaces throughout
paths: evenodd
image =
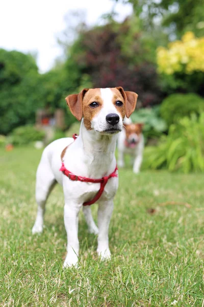
M 94 87 L 123 86 L 135 91 L 143 105 L 160 102 L 160 89 L 154 64 L 155 54 L 137 25 L 127 19 L 81 31 L 69 50 L 65 63 L 74 88 L 82 76 L 90 76 Z M 155 48 L 156 50 L 156 48 Z

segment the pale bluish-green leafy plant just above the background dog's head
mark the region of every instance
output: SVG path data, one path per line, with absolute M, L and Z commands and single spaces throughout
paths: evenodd
M 140 108 L 131 115 L 133 122 L 144 123 L 143 133 L 146 139 L 160 137 L 166 131 L 166 122 L 160 117 L 160 107 Z

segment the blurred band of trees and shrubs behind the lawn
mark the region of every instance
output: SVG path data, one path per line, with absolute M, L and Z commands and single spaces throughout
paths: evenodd
M 102 26 L 88 27 L 80 11 L 68 14 L 58 37 L 64 56 L 45 74 L 31 54 L 0 50 L 3 146 L 43 139 L 31 128 L 42 108 L 64 109 L 65 125 L 53 139 L 65 136 L 75 122 L 64 100 L 68 94 L 117 85 L 138 93 L 132 119 L 145 123 L 146 143 L 157 144 L 146 149 L 144 168 L 204 170 L 203 2 L 128 2 L 133 14 L 121 23 L 114 20 L 114 6 Z

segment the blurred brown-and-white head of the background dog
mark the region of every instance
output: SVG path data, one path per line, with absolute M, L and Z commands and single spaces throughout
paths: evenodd
M 128 147 L 134 148 L 140 140 L 140 135 L 143 128 L 142 123 L 138 124 L 124 124 L 126 140 L 125 143 Z

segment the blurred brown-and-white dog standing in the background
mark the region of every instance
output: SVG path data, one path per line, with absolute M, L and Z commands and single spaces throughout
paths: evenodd
M 118 166 L 124 167 L 124 154 L 131 155 L 133 172 L 139 173 L 144 149 L 143 124 L 134 124 L 131 119 L 125 119 L 122 132 L 118 137 Z

